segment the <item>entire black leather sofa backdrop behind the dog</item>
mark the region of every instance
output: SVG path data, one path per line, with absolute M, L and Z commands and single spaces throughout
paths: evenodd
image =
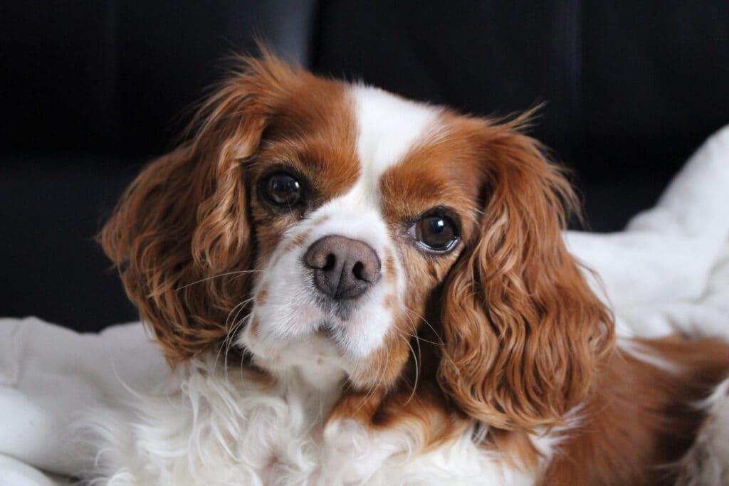
M 532 135 L 594 231 L 649 208 L 729 122 L 727 1 L 1 1 L 0 315 L 137 318 L 93 236 L 256 37 L 473 114 L 546 103 Z

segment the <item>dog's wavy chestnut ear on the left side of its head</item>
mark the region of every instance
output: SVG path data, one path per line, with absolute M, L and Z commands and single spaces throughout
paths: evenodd
M 245 162 L 295 68 L 266 52 L 241 63 L 198 112 L 195 136 L 139 174 L 100 235 L 173 365 L 225 339 L 250 286 Z

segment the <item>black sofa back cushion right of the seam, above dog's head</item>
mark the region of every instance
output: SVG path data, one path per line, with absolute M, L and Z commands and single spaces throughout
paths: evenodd
M 590 227 L 650 207 L 729 122 L 729 2 L 328 1 L 313 66 L 476 114 L 545 103 Z

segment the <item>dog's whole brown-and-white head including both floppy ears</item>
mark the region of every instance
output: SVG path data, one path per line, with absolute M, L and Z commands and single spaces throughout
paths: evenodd
M 393 388 L 428 342 L 468 415 L 574 405 L 609 318 L 561 241 L 569 187 L 518 123 L 247 62 L 102 235 L 168 358 L 232 343 Z

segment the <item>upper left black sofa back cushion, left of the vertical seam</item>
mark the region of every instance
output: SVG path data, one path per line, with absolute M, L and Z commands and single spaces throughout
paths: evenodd
M 158 154 L 254 36 L 305 61 L 313 0 L 23 0 L 0 7 L 0 149 Z

